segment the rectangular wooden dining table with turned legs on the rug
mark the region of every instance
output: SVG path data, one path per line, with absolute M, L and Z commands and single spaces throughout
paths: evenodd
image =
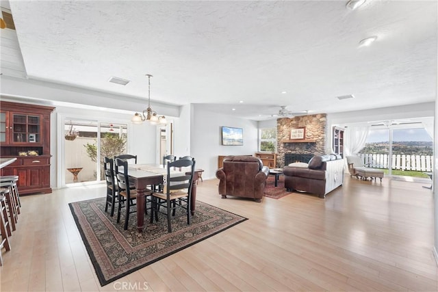
M 185 174 L 185 170 L 170 170 L 170 176 Z M 128 167 L 129 182 L 137 189 L 137 230 L 142 233 L 144 230 L 144 207 L 145 196 L 150 193 L 149 186 L 164 183 L 167 177 L 167 168 L 163 165 L 133 164 Z M 194 172 L 192 180 L 192 198 L 190 200 L 190 212 L 194 215 L 196 209 L 196 185 L 198 173 Z

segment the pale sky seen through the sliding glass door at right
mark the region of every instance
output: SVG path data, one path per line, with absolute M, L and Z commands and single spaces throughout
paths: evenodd
M 389 129 L 372 130 L 368 134 L 368 143 L 387 141 L 389 141 Z M 425 129 L 394 129 L 393 141 L 432 142 L 432 138 Z

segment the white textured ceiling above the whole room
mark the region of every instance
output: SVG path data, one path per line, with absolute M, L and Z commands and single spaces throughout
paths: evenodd
M 437 1 L 10 1 L 27 76 L 255 120 L 435 101 Z M 359 47 L 369 36 L 378 39 Z M 131 80 L 126 86 L 110 77 Z M 282 94 L 281 92 L 287 92 Z M 354 94 L 343 101 L 336 96 Z M 238 104 L 239 101 L 244 101 Z M 262 116 L 259 116 L 261 114 Z

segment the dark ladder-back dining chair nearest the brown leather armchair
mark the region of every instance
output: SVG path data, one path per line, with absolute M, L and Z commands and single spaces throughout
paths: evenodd
M 172 216 L 175 216 L 177 208 L 185 209 L 187 215 L 187 224 L 192 223 L 192 213 L 190 212 L 190 204 L 192 198 L 192 181 L 194 175 L 195 161 L 194 159 L 179 159 L 167 163 L 166 183 L 164 184 L 164 191 L 154 192 L 152 194 L 152 211 L 151 223 L 154 217 L 158 221 L 159 207 L 166 209 L 168 232 L 172 232 Z M 171 175 L 171 169 L 190 168 L 181 172 L 178 176 Z M 176 203 L 179 200 L 179 203 Z M 164 212 L 163 212 L 164 213 Z

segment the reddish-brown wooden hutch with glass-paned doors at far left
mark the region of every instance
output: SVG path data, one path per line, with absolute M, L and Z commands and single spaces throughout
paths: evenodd
M 1 175 L 18 176 L 20 194 L 50 193 L 50 118 L 54 107 L 0 102 Z

